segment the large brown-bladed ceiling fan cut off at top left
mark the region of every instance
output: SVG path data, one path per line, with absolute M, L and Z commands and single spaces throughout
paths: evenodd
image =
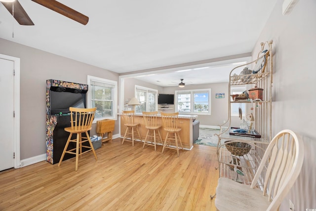
M 23 9 L 22 5 L 18 0 L 0 0 L 4 7 L 13 15 L 15 20 L 20 25 L 32 26 L 33 21 Z M 71 18 L 83 25 L 86 25 L 89 21 L 89 17 L 81 14 L 80 12 L 56 1 L 56 0 L 32 0 L 40 5 L 47 7 L 59 14 L 62 14 L 68 18 Z

